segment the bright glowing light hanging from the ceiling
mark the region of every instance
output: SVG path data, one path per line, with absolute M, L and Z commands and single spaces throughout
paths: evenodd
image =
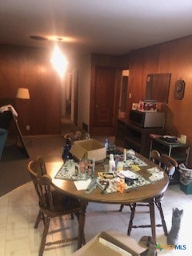
M 62 78 L 66 72 L 68 62 L 57 44 L 54 46 L 54 51 L 50 62 L 53 64 L 54 70 L 56 70 L 59 76 Z

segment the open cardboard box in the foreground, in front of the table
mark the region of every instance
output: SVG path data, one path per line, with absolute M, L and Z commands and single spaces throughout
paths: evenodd
M 101 241 L 102 240 L 102 241 Z M 87 242 L 77 250 L 73 256 L 142 256 L 146 254 L 147 247 L 140 246 L 134 238 L 120 230 L 106 230 Z

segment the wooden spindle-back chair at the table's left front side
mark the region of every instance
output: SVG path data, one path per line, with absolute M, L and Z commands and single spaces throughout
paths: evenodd
M 82 208 L 78 199 L 70 198 L 54 189 L 50 176 L 46 174 L 46 166 L 42 157 L 38 157 L 36 160 L 30 161 L 27 169 L 34 183 L 36 193 L 38 194 L 39 213 L 34 228 L 38 228 L 38 224 L 41 220 L 44 224 L 42 241 L 38 252 L 38 255 L 42 256 L 45 246 L 51 246 L 62 242 L 70 242 L 78 239 L 78 237 L 63 238 L 59 241 L 46 242 L 46 236 L 50 227 L 50 219 L 62 218 L 62 216 L 66 214 L 75 214 L 78 218 Z M 83 225 L 83 223 L 80 223 L 78 218 L 78 228 L 81 225 Z M 82 236 L 82 241 L 85 243 L 84 234 L 82 234 Z

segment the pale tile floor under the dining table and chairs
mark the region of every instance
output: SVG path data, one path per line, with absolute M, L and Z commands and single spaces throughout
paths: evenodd
M 192 252 L 191 227 L 192 227 L 192 194 L 186 195 L 178 185 L 170 186 L 166 190 L 162 202 L 168 230 L 170 230 L 172 208 L 178 206 L 184 210 L 182 226 L 179 232 L 179 244 L 186 245 L 186 250 L 162 250 L 159 255 L 190 256 Z M 128 219 L 130 217 L 129 207 L 125 206 L 122 213 L 118 212 L 118 205 L 106 205 L 90 203 L 86 212 L 86 242 L 93 238 L 102 230 L 110 228 L 122 230 L 126 233 Z M 144 207 L 136 214 L 135 221 L 146 223 L 149 221 L 149 214 L 144 212 Z M 38 214 L 38 202 L 31 182 L 18 187 L 16 190 L 0 198 L 0 255 L 1 256 L 37 256 L 38 247 L 42 234 L 42 223 L 34 230 L 34 222 Z M 158 216 L 158 212 L 157 212 Z M 62 219 L 65 227 L 61 225 L 61 220 L 51 222 L 51 230 L 62 226 L 57 234 L 50 232 L 49 240 L 55 236 L 61 237 L 63 234 L 77 234 L 77 220 L 70 220 L 70 216 Z M 131 236 L 137 241 L 143 235 L 150 235 L 150 229 L 134 229 Z M 157 241 L 161 245 L 166 245 L 166 237 L 162 228 L 157 228 Z M 66 245 L 54 246 L 50 250 L 45 250 L 45 256 L 70 256 L 76 250 L 76 242 Z M 91 255 L 88 255 L 91 256 Z

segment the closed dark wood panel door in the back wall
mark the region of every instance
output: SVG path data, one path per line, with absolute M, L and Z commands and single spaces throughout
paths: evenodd
M 94 82 L 93 134 L 114 134 L 116 69 L 96 67 Z

